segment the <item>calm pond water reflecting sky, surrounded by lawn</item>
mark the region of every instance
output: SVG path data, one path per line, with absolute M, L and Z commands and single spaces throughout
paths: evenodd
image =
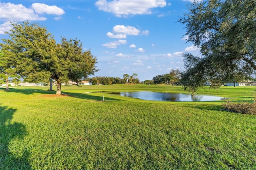
M 121 96 L 152 101 L 218 101 L 223 97 L 210 95 L 190 95 L 182 93 L 159 93 L 151 91 L 121 92 Z

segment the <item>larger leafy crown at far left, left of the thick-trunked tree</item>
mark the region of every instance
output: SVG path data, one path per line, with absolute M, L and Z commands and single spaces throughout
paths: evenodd
M 6 63 L 27 81 L 44 81 L 50 77 L 47 62 L 55 49 L 55 40 L 45 27 L 29 22 L 12 23 L 6 32 L 9 39 L 2 39 L 1 49 Z

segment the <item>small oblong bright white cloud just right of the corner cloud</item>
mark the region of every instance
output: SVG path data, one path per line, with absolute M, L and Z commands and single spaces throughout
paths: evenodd
M 65 11 L 62 10 L 61 8 L 53 5 L 49 6 L 46 4 L 41 4 L 41 3 L 34 3 L 31 6 L 32 9 L 35 10 L 36 13 L 38 14 L 54 14 L 54 15 L 63 15 L 65 14 Z

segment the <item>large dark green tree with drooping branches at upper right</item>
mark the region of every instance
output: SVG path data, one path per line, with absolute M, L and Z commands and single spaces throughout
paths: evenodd
M 212 87 L 256 71 L 256 1 L 206 0 L 188 5 L 179 22 L 187 41 L 200 48 L 200 56 L 184 53 L 182 83 L 195 92 L 206 81 Z

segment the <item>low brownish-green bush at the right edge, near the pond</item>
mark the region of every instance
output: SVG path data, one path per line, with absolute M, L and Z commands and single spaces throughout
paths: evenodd
M 226 111 L 256 115 L 256 95 L 254 95 L 253 103 L 249 103 L 249 102 L 235 103 L 235 102 L 227 101 L 226 103 L 223 103 L 222 106 L 225 108 Z

